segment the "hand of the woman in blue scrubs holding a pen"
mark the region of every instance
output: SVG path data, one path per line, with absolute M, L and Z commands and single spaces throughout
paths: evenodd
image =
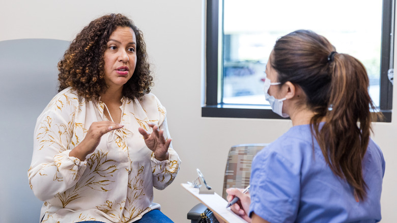
M 240 200 L 234 205 L 230 206 L 230 209 L 242 217 L 244 220 L 251 222 L 251 218 L 248 217 L 249 205 L 251 204 L 251 198 L 249 193 L 243 193 L 243 189 L 229 188 L 226 189 L 228 192 L 228 201 L 231 202 L 234 197 L 238 197 Z

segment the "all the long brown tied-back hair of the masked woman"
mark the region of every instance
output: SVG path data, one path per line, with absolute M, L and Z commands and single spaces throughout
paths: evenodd
M 295 31 L 277 40 L 271 65 L 279 82 L 290 81 L 305 92 L 306 105 L 315 112 L 310 120 L 312 133 L 326 162 L 363 200 L 366 184 L 361 161 L 370 140 L 370 109 L 374 109 L 369 80 L 357 59 L 343 53 L 331 55 L 333 51 L 323 36 Z

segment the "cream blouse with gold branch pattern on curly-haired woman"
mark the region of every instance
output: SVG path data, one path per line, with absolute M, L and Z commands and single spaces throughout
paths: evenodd
M 172 146 L 168 160 L 155 159 L 138 128 L 151 132 L 148 123 L 154 123 L 168 138 L 165 108 L 153 94 L 121 101 L 124 127 L 103 135 L 84 161 L 69 152 L 93 122 L 107 120 L 103 102 L 87 101 L 67 88 L 37 119 L 28 176 L 36 197 L 44 201 L 42 222 L 133 222 L 160 208 L 152 203 L 153 187 L 171 184 L 181 160 Z

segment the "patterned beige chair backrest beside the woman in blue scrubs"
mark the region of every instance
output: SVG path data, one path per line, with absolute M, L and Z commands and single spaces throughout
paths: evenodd
M 269 144 L 241 144 L 233 146 L 228 155 L 224 172 L 222 197 L 226 199 L 226 189 L 245 188 L 249 185 L 253 157 Z

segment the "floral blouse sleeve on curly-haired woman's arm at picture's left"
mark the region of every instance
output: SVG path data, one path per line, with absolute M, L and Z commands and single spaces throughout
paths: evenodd
M 75 185 L 87 167 L 87 161 L 69 157 L 75 123 L 73 95 L 55 97 L 37 119 L 34 133 L 29 183 L 36 197 L 45 201 Z M 83 131 L 82 126 L 78 127 Z M 78 141 L 78 140 L 77 140 Z

